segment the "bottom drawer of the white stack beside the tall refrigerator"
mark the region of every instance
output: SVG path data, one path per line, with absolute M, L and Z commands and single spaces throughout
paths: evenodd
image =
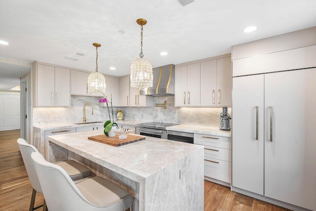
M 204 175 L 231 183 L 232 181 L 232 163 L 217 159 L 204 159 Z

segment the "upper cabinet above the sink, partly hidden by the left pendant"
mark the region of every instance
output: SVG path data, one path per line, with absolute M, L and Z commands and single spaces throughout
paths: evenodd
M 73 95 L 88 95 L 88 96 L 103 96 L 100 93 L 88 93 L 88 77 L 89 72 L 71 70 L 71 94 Z

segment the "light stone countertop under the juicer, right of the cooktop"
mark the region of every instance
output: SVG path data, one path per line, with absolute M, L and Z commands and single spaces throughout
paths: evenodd
M 179 131 L 179 132 L 201 133 L 201 134 L 205 134 L 205 135 L 218 135 L 218 136 L 232 137 L 231 130 L 221 130 L 218 127 L 177 125 L 177 126 L 167 127 L 167 130 L 173 130 L 173 131 Z

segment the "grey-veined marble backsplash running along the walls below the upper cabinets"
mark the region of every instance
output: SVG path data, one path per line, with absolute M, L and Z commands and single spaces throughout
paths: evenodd
M 51 125 L 64 123 L 80 123 L 83 120 L 83 105 L 92 103 L 93 115 L 90 105 L 86 106 L 87 122 L 104 121 L 109 119 L 106 107 L 99 107 L 99 97 L 76 96 L 71 97 L 71 107 L 35 107 L 33 108 L 33 125 Z M 184 125 L 197 125 L 219 127 L 222 107 L 174 107 L 174 96 L 156 96 L 155 103 L 167 101 L 167 109 L 162 107 L 113 107 L 116 117 L 118 109 L 123 111 L 124 119 L 148 120 L 155 122 L 178 123 Z M 111 111 L 110 111 L 111 112 Z M 228 109 L 231 114 L 231 108 Z M 112 114 L 111 114 L 112 116 Z

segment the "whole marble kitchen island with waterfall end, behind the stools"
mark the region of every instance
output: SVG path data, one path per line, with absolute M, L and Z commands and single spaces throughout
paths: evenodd
M 132 211 L 203 211 L 203 146 L 146 136 L 114 147 L 92 130 L 48 136 L 49 161 L 76 160 L 133 196 Z

